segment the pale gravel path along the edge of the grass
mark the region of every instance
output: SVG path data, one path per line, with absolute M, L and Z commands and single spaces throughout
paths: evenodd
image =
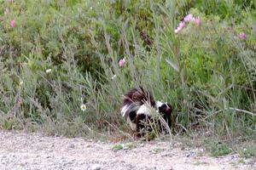
M 214 158 L 202 149 L 186 150 L 177 143 L 136 142 L 128 149 L 117 144 L 81 138 L 48 137 L 41 133 L 0 131 L 0 169 L 107 169 L 193 170 L 256 169 L 256 163 L 239 163 L 237 155 Z

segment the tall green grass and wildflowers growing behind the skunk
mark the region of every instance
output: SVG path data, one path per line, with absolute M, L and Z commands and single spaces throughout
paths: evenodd
M 121 96 L 143 84 L 173 105 L 176 133 L 255 139 L 255 7 L 253 0 L 1 1 L 0 127 L 126 133 Z

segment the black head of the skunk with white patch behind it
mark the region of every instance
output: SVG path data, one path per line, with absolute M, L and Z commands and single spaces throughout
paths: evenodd
M 157 110 L 160 112 L 160 114 L 163 116 L 163 118 L 168 123 L 168 126 L 171 127 L 171 115 L 172 115 L 172 105 L 168 103 L 162 103 L 160 101 L 156 102 Z

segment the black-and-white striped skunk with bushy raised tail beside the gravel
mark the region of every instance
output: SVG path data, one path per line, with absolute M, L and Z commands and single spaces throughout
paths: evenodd
M 171 127 L 172 105 L 160 101 L 155 102 L 150 92 L 141 86 L 131 89 L 124 96 L 121 114 L 130 124 L 131 129 L 137 131 L 137 137 L 142 136 L 141 130 L 145 127 L 145 122 L 152 121 L 150 107 L 159 112 L 168 127 Z

